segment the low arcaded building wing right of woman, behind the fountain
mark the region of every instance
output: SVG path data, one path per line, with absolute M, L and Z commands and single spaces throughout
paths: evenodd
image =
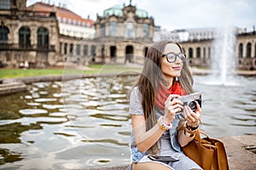
M 233 29 L 235 37 L 235 59 L 236 68 L 241 70 L 256 69 L 256 34 L 239 28 Z M 157 40 L 172 40 L 183 46 L 183 51 L 189 57 L 191 66 L 210 67 L 212 57 L 218 52 L 214 43 L 218 37 L 224 37 L 224 32 L 217 28 L 183 29 L 174 31 L 155 32 Z M 228 44 L 230 45 L 230 44 Z M 221 58 L 221 56 L 219 56 Z

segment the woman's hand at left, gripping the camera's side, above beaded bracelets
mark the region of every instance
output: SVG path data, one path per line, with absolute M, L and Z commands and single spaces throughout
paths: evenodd
M 165 115 L 163 117 L 163 121 L 169 125 L 172 123 L 175 115 L 178 111 L 183 109 L 183 102 L 180 99 L 177 99 L 180 95 L 177 94 L 170 94 L 166 99 L 165 106 Z

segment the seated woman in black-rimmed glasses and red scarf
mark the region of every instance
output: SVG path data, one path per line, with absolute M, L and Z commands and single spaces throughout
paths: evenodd
M 201 107 L 195 112 L 177 99 L 193 93 L 193 79 L 177 42 L 155 42 L 130 94 L 131 168 L 201 169 L 181 147 L 194 138 Z

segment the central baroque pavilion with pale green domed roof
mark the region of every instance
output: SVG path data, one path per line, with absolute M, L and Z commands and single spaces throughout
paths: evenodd
M 96 62 L 143 64 L 148 46 L 153 43 L 154 19 L 148 12 L 131 5 L 115 5 L 97 14 Z

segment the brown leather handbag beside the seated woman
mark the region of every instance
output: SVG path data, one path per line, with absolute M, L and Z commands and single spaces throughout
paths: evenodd
M 200 133 L 204 134 L 206 138 L 201 139 Z M 224 144 L 218 139 L 209 138 L 199 129 L 195 131 L 195 138 L 182 149 L 186 156 L 189 156 L 204 170 L 229 169 Z

